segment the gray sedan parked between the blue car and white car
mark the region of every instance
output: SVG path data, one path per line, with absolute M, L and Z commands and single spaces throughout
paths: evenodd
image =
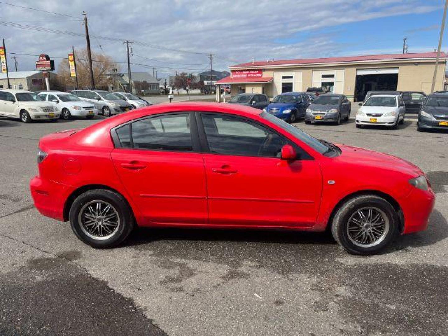
M 350 118 L 351 103 L 345 95 L 326 93 L 319 95 L 306 109 L 305 123 L 332 121 L 337 125 Z

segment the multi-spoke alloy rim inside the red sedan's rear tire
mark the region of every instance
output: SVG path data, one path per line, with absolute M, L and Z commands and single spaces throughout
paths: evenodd
M 79 224 L 83 233 L 95 240 L 106 240 L 120 228 L 120 216 L 112 204 L 94 200 L 79 211 Z

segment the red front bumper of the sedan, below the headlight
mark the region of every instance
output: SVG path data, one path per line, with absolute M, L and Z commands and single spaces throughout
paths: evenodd
M 435 194 L 431 188 L 427 191 L 414 188 L 400 204 L 405 220 L 403 233 L 426 230 L 434 203 Z

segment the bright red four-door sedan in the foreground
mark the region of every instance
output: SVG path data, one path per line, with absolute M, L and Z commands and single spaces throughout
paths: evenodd
M 324 231 L 374 254 L 424 230 L 435 194 L 415 165 L 317 140 L 254 108 L 140 108 L 39 142 L 30 182 L 43 215 L 86 244 L 120 244 L 135 225 Z

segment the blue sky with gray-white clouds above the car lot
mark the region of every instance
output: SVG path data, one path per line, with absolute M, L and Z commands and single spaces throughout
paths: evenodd
M 152 73 L 157 67 L 160 78 L 175 70 L 206 70 L 209 53 L 215 55 L 213 68 L 224 70 L 252 57 L 399 53 L 404 37 L 409 52 L 431 51 L 437 47 L 443 4 L 443 0 L 1 0 L 0 37 L 10 53 L 67 57 L 72 45 L 86 46 L 81 35 L 85 11 L 90 34 L 99 36 L 90 39 L 95 52 L 125 62 L 120 40 L 136 41 L 133 71 Z M 19 70 L 35 68 L 35 56 L 15 56 Z M 11 70 L 13 60 L 8 61 Z

